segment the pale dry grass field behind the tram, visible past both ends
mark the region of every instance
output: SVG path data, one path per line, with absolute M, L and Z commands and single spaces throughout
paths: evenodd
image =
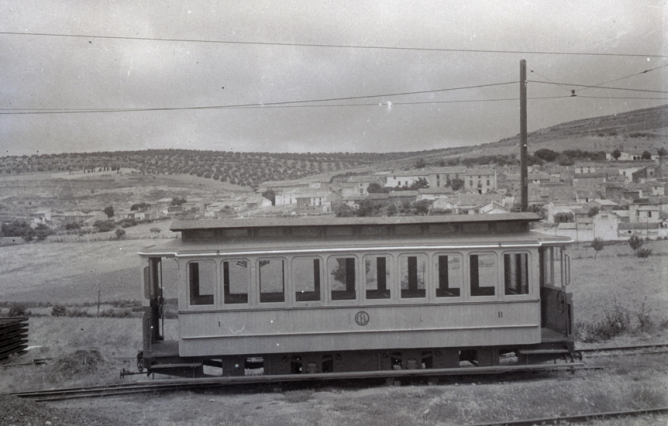
M 140 236 L 142 230 L 134 232 Z M 160 235 L 168 233 L 173 235 L 167 230 Z M 0 246 L 0 302 L 95 303 L 98 290 L 103 302 L 139 300 L 136 253 L 166 240 L 87 242 L 85 237 L 81 242 Z M 646 259 L 633 256 L 625 243 L 606 246 L 596 259 L 587 245 L 570 250 L 568 291 L 574 293 L 578 321 L 596 321 L 616 305 L 631 313 L 644 309 L 657 325 L 668 319 L 668 241 L 647 242 L 644 247 L 653 250 Z

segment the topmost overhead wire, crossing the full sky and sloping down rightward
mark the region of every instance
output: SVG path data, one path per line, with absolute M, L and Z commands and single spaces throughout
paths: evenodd
M 316 44 L 316 43 L 282 43 L 268 41 L 236 41 L 236 40 L 205 40 L 186 38 L 157 38 L 157 37 L 129 37 L 129 36 L 105 36 L 93 34 L 59 34 L 38 33 L 19 31 L 0 31 L 0 35 L 36 36 L 36 37 L 67 37 L 84 39 L 107 39 L 107 40 L 135 40 L 135 41 L 158 41 L 158 42 L 180 42 L 180 43 L 214 43 L 231 45 L 253 45 L 253 46 L 285 46 L 285 47 L 314 47 L 335 49 L 372 49 L 372 50 L 404 50 L 419 52 L 459 52 L 459 53 L 501 53 L 501 54 L 530 54 L 530 55 L 573 55 L 573 56 L 617 56 L 636 58 L 668 58 L 668 55 L 638 54 L 638 53 L 602 53 L 602 52 L 561 52 L 542 50 L 500 50 L 500 49 L 452 49 L 437 47 L 401 47 L 401 46 L 372 46 L 356 44 Z

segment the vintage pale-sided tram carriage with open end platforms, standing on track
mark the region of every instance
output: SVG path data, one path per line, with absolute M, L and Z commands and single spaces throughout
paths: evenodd
M 571 241 L 532 213 L 176 221 L 142 253 L 148 372 L 238 376 L 494 366 L 573 352 Z M 162 262 L 178 264 L 164 340 Z

